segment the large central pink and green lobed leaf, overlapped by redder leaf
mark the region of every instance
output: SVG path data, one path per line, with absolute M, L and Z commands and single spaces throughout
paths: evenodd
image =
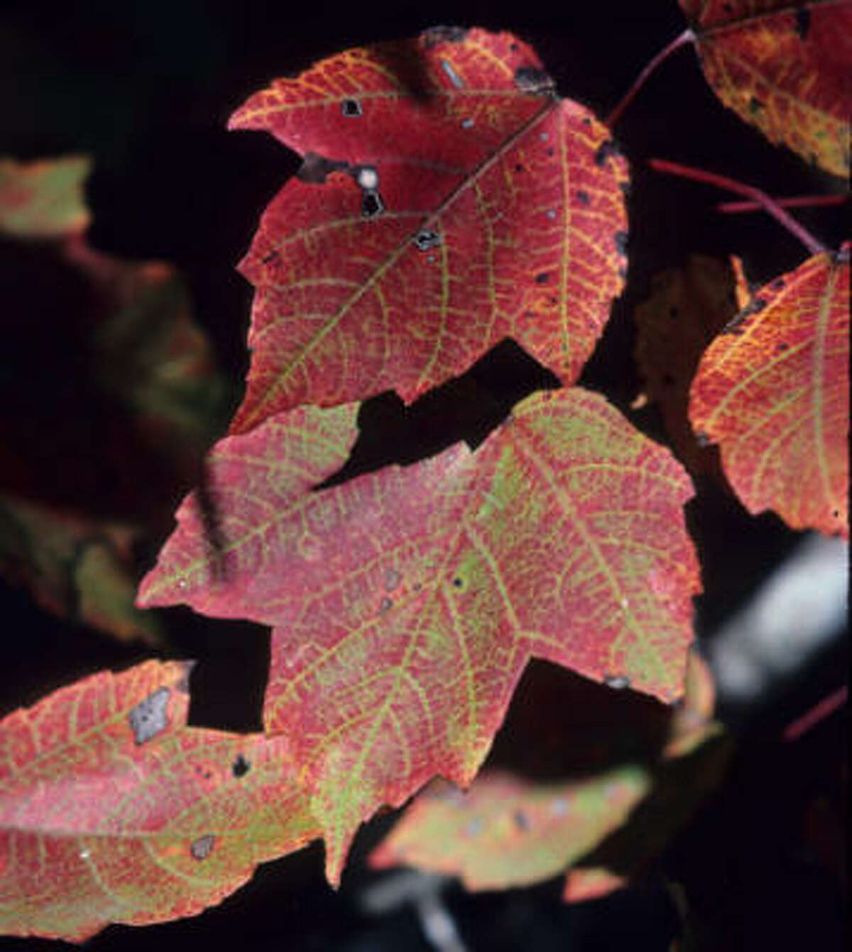
M 338 407 L 222 441 L 221 563 L 190 497 L 140 589 L 275 625 L 267 730 L 306 765 L 332 881 L 382 803 L 473 779 L 530 657 L 673 699 L 700 587 L 684 471 L 597 395 L 535 394 L 475 453 L 307 493 L 353 438 Z

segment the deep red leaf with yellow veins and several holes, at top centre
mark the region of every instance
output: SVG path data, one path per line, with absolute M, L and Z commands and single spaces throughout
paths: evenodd
M 240 268 L 243 432 L 300 404 L 411 401 L 513 337 L 573 383 L 624 273 L 627 172 L 508 33 L 428 30 L 277 80 L 233 115 L 305 157 Z

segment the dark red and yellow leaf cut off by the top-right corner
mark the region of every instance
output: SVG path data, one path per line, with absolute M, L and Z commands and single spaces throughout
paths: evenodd
M 852 4 L 680 0 L 707 82 L 772 143 L 849 174 Z

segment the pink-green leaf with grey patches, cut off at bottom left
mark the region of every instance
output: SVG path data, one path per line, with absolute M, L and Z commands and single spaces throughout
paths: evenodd
M 188 669 L 96 674 L 0 722 L 0 932 L 194 915 L 317 836 L 285 738 L 186 725 Z

